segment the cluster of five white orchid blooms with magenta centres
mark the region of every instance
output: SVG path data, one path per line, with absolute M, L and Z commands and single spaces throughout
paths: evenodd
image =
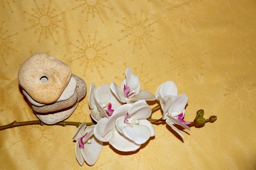
M 126 78 L 119 87 L 111 85 L 90 85 L 90 115 L 97 124 L 86 127 L 83 122 L 77 129 L 76 158 L 82 166 L 84 162 L 94 165 L 103 142 L 108 142 L 121 152 L 132 152 L 141 144 L 155 136 L 155 130 L 148 118 L 152 110 L 146 101 L 158 100 L 163 111 L 162 119 L 183 138 L 175 124 L 190 130 L 191 122 L 185 121 L 186 94 L 178 95 L 177 86 L 172 81 L 161 84 L 156 95 L 140 90 L 139 79 L 130 68 L 126 68 Z

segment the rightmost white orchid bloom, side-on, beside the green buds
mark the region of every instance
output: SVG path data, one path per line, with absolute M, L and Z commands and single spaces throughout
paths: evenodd
M 184 129 L 190 130 L 187 126 L 190 122 L 183 120 L 188 97 L 186 94 L 180 94 L 179 96 L 177 96 L 177 94 L 178 90 L 175 83 L 167 81 L 159 85 L 156 92 L 156 98 L 160 102 L 163 110 L 163 119 L 165 119 L 166 123 L 183 138 L 182 133 L 174 126 L 174 124 L 178 124 Z

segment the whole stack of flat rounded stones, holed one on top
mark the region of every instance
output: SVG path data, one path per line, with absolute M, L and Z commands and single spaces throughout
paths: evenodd
M 46 124 L 70 117 L 86 95 L 86 83 L 66 64 L 43 52 L 21 65 L 18 81 L 34 113 Z

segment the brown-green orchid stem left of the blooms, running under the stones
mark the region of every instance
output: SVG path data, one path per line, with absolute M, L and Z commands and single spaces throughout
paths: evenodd
M 0 131 L 1 130 L 5 130 L 5 129 L 10 129 L 10 128 L 14 128 L 14 127 L 18 127 L 18 126 L 27 126 L 27 125 L 35 125 L 35 124 L 39 124 L 39 125 L 49 125 L 49 124 L 45 124 L 40 120 L 33 120 L 33 121 L 21 121 L 21 122 L 17 122 L 16 120 L 13 121 L 10 124 L 6 124 L 3 126 L 0 126 Z M 81 122 L 74 122 L 74 121 L 61 121 L 59 123 L 56 123 L 54 125 L 60 125 L 60 126 L 67 126 L 67 125 L 71 125 L 71 126 L 77 126 L 79 127 L 79 125 L 82 124 Z M 94 125 L 94 122 L 89 122 L 86 123 L 86 126 L 91 126 Z M 50 125 L 49 125 L 50 126 Z

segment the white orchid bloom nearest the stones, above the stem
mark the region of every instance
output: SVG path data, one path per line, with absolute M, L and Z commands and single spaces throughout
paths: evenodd
M 92 83 L 89 92 L 89 106 L 92 118 L 98 122 L 101 118 L 110 117 L 121 103 L 110 90 L 110 85 L 100 85 L 98 88 Z

